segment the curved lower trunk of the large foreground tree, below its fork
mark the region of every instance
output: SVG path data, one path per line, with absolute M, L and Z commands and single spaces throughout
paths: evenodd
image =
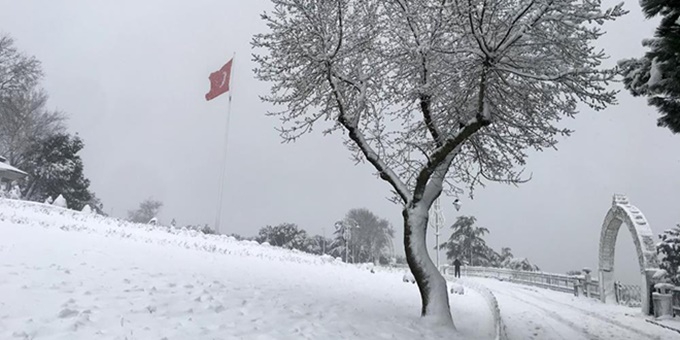
M 404 208 L 404 249 L 406 261 L 416 279 L 422 300 L 421 315 L 441 325 L 455 327 L 451 318 L 446 280 L 427 251 L 428 207 L 422 202 Z

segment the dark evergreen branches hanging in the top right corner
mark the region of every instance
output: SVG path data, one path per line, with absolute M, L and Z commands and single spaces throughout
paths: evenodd
M 654 38 L 642 45 L 642 58 L 619 62 L 623 81 L 634 96 L 645 96 L 661 117 L 658 125 L 680 133 L 680 2 L 641 0 L 647 18 L 661 16 Z

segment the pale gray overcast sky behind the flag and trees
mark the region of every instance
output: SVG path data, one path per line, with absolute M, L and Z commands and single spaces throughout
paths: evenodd
M 608 5 L 614 1 L 605 1 Z M 253 235 L 267 224 L 294 222 L 329 234 L 355 207 L 390 220 L 402 252 L 400 208 L 368 164 L 355 166 L 339 135 L 319 130 L 281 144 L 258 95 L 250 40 L 265 27 L 265 0 L 10 1 L 0 0 L 0 32 L 43 63 L 50 107 L 70 116 L 85 141 L 82 157 L 105 210 L 125 216 L 147 198 L 165 203 L 161 219 L 210 223 L 215 217 L 227 96 L 206 102 L 208 75 L 235 52 L 223 220 L 227 232 Z M 606 26 L 601 47 L 618 59 L 643 53 L 655 21 L 637 1 Z M 614 193 L 625 193 L 655 233 L 680 223 L 680 135 L 656 127 L 646 100 L 626 92 L 603 112 L 583 110 L 559 151 L 531 152 L 519 187 L 489 184 L 465 197 L 460 214 L 491 230 L 489 242 L 509 246 L 548 271 L 597 268 L 602 221 Z M 447 198 L 445 217 L 457 216 Z M 448 232 L 444 232 L 448 236 Z M 616 270 L 638 270 L 627 231 L 619 234 Z M 432 237 L 432 235 L 430 235 Z M 433 238 L 433 237 L 432 237 Z M 432 241 L 434 245 L 434 242 Z

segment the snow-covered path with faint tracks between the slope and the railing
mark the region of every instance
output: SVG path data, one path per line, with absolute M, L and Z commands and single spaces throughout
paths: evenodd
M 680 339 L 645 322 L 638 308 L 605 305 L 551 290 L 473 278 L 496 295 L 510 339 Z

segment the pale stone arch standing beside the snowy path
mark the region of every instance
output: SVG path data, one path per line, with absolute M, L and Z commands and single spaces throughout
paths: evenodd
M 602 224 L 599 251 L 599 288 L 602 302 L 616 302 L 614 292 L 614 253 L 616 236 L 621 224 L 628 226 L 633 236 L 640 266 L 642 312 L 650 313 L 652 275 L 659 268 L 654 234 L 642 212 L 624 195 L 614 195 L 612 207 Z

